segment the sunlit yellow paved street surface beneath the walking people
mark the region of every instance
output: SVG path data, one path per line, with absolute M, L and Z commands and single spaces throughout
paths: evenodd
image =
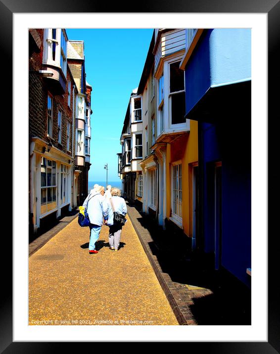
M 90 255 L 89 227 L 76 218 L 29 258 L 30 325 L 178 325 L 127 220 L 118 252 L 102 226 Z

